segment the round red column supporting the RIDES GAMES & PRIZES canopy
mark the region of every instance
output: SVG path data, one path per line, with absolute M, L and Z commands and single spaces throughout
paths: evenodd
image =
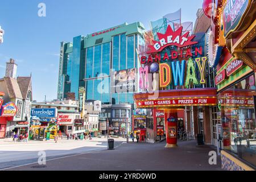
M 164 121 L 166 122 L 166 147 L 177 146 L 177 110 L 164 109 Z

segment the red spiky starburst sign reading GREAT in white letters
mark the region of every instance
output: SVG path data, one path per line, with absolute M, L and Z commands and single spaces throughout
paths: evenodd
M 197 44 L 198 42 L 192 42 L 192 39 L 195 38 L 195 35 L 189 35 L 189 31 L 181 35 L 183 27 L 179 27 L 176 31 L 173 31 L 171 26 L 168 25 L 166 34 L 161 34 L 157 32 L 159 41 L 152 40 L 153 45 L 148 46 L 147 53 L 160 52 L 168 46 L 177 46 L 185 47 Z M 158 47 L 158 49 L 156 49 Z

